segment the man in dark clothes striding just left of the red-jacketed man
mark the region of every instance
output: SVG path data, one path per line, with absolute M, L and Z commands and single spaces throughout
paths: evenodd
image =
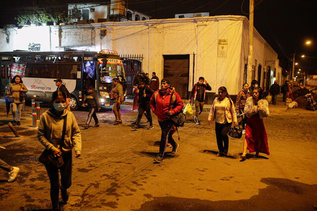
M 150 122 L 150 126 L 148 130 L 153 129 L 152 115 L 151 115 L 151 107 L 150 107 L 150 99 L 153 95 L 153 90 L 150 89 L 148 85 L 146 85 L 142 80 L 139 80 L 139 108 L 138 108 L 138 118 L 135 126 L 132 127 L 134 130 L 139 130 L 139 124 L 142 118 L 144 111 L 147 113 L 146 117 Z

